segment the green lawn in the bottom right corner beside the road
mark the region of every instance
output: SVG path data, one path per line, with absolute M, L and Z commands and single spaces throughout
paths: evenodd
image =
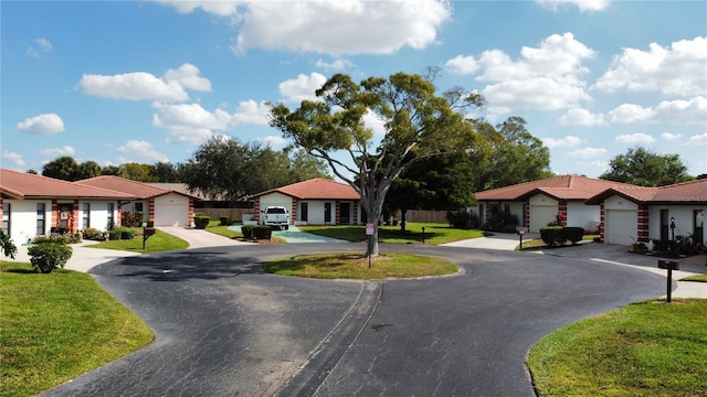
M 538 396 L 706 396 L 707 300 L 645 301 L 562 328 L 528 358 Z

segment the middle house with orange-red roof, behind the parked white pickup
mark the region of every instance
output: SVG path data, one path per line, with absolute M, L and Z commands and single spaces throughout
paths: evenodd
M 360 224 L 360 195 L 349 184 L 315 178 L 251 197 L 255 221 L 267 206 L 284 206 L 295 225 Z

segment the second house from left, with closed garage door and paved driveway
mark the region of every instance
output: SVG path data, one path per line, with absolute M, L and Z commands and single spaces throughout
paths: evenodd
M 123 211 L 145 214 L 145 219 L 155 221 L 155 226 L 190 226 L 194 219 L 196 194 L 157 187 L 114 175 L 103 175 L 76 181 L 76 183 L 129 193 L 134 200 L 122 204 Z

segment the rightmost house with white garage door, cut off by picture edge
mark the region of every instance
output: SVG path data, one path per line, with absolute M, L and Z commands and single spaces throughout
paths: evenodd
M 674 236 L 692 236 L 695 243 L 707 243 L 705 179 L 661 187 L 613 186 L 589 197 L 587 204 L 600 205 L 600 233 L 606 244 L 665 242 Z

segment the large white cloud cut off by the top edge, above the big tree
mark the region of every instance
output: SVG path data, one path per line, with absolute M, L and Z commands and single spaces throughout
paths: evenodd
M 445 0 L 160 1 L 189 13 L 228 17 L 239 28 L 232 49 L 326 54 L 391 54 L 424 49 L 452 15 Z M 295 17 L 296 15 L 296 17 Z M 273 29 L 277 26 L 277 29 Z

